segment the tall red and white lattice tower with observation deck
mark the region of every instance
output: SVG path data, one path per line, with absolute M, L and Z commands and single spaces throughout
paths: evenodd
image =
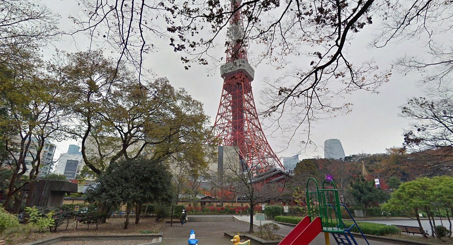
M 213 134 L 220 138 L 221 145 L 238 147 L 243 170 L 246 166 L 254 172 L 284 169 L 270 148 L 256 113 L 251 87 L 255 71 L 247 61 L 240 5 L 241 0 L 231 0 L 233 15 L 227 31 L 226 64 L 220 66 L 223 90 Z

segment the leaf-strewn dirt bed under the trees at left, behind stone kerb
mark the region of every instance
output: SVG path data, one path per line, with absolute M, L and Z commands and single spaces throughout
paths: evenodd
M 140 218 L 140 222 L 135 224 L 135 218 L 130 218 L 129 226 L 125 230 L 123 229 L 125 218 L 110 218 L 107 220 L 107 223 L 96 225 L 90 225 L 90 228 L 87 229 L 87 225 L 78 224 L 76 229 L 76 221 L 70 220 L 69 226 L 66 229 L 66 221 L 63 222 L 61 226 L 57 228 L 56 232 L 43 232 L 31 233 L 28 237 L 18 236 L 11 240 L 10 244 L 23 244 L 27 242 L 32 242 L 36 240 L 42 240 L 45 238 L 68 235 L 68 236 L 83 236 L 83 235 L 106 235 L 106 234 L 141 234 L 140 231 L 157 231 L 162 232 L 161 228 L 163 222 L 156 222 L 155 218 Z

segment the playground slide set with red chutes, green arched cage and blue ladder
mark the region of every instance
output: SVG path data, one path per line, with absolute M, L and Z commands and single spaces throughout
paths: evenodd
M 313 185 L 309 187 L 309 184 Z M 329 184 L 328 186 L 326 184 Z M 326 185 L 326 186 L 325 186 Z M 357 226 L 354 217 L 344 204 L 338 199 L 338 190 L 332 179 L 324 179 L 323 186 L 319 189 L 318 182 L 314 178 L 307 181 L 307 208 L 308 216 L 289 232 L 279 245 L 308 245 L 320 232 L 324 232 L 326 245 L 330 245 L 329 233 L 338 245 L 358 245 L 351 233 L 351 229 Z M 344 207 L 354 224 L 347 227 L 342 221 L 340 207 Z M 370 245 L 363 235 L 360 227 L 357 226 L 366 244 Z

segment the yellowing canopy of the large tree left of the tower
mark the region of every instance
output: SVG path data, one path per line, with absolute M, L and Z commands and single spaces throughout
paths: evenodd
M 209 120 L 201 102 L 165 78 L 139 83 L 101 50 L 64 57 L 53 69 L 71 91 L 69 132 L 82 139 L 83 160 L 92 171 L 99 175 L 116 160 L 133 160 L 145 151 L 156 161 L 183 159 L 193 171 L 207 165 Z

